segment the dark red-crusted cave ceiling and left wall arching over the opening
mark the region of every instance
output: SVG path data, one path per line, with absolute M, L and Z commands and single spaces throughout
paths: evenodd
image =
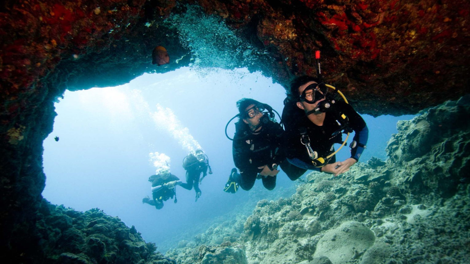
M 467 0 L 2 1 L 1 250 L 22 251 L 10 239 L 42 202 L 42 141 L 65 89 L 188 65 L 248 67 L 287 86 L 314 75 L 321 49 L 324 77 L 361 113 L 415 113 L 468 93 L 469 14 Z M 171 58 L 160 67 L 158 45 Z

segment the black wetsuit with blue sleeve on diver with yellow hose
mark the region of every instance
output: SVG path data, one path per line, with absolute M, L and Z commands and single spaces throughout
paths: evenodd
M 321 171 L 321 168 L 315 168 L 312 165 L 312 159 L 308 155 L 305 145 L 300 141 L 301 132 L 305 132 L 305 135 L 310 139 L 310 146 L 313 151 L 316 151 L 320 157 L 326 157 L 335 151 L 335 143 L 343 143 L 341 131 L 344 127 L 340 126 L 337 120 L 340 123 L 348 124 L 349 128 L 356 132 L 354 140 L 360 143 L 361 147 L 354 148 L 351 157 L 356 160 L 359 159 L 368 139 L 366 122 L 344 101 L 337 101 L 333 107 L 334 111 L 325 113 L 325 120 L 322 126 L 313 124 L 305 116 L 304 110 L 298 109 L 297 106 L 286 105 L 284 107 L 282 120 L 289 118 L 290 122 L 285 124 L 286 132 L 284 134 L 283 149 L 290 163 L 303 169 Z M 337 113 L 347 116 L 348 122 L 344 122 L 344 119 L 338 116 Z M 327 161 L 327 163 L 335 162 L 335 155 Z

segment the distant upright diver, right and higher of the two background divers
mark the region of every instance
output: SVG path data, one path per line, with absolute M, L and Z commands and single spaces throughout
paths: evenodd
M 197 202 L 197 199 L 201 197 L 199 183 L 207 176 L 207 169 L 209 169 L 209 174 L 212 174 L 209 158 L 204 154 L 204 151 L 197 149 L 195 152 L 190 152 L 183 159 L 183 168 L 186 170 L 186 183 L 182 183 L 180 186 L 187 190 L 191 190 L 194 186 Z M 203 174 L 202 178 L 200 178 L 201 173 Z

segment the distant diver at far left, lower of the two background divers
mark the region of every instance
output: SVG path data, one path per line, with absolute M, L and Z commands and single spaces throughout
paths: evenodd
M 157 209 L 163 208 L 163 201 L 175 198 L 176 199 L 176 185 L 181 185 L 180 179 L 170 173 L 169 170 L 161 170 L 158 174 L 149 177 L 149 182 L 152 183 L 152 199 L 149 196 L 142 199 L 142 203 L 148 203 L 155 206 Z

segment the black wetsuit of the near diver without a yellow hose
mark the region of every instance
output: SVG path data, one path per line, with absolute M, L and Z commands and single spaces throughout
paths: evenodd
M 248 124 L 238 121 L 235 123 L 235 129 L 232 153 L 235 167 L 240 170 L 240 174 L 235 174 L 234 180 L 243 190 L 247 191 L 253 187 L 258 173 L 262 171 L 258 167 L 264 165 L 271 167 L 273 164 L 278 164 L 282 171 L 288 175 L 299 173 L 298 168 L 291 166 L 285 160 L 280 150 L 281 136 L 284 132 L 280 124 L 268 121 L 266 124 L 262 124 L 259 131 L 252 132 Z M 291 171 L 290 168 L 294 168 L 296 171 Z M 272 190 L 276 186 L 276 176 L 262 176 L 261 179 L 263 186 L 268 190 Z

